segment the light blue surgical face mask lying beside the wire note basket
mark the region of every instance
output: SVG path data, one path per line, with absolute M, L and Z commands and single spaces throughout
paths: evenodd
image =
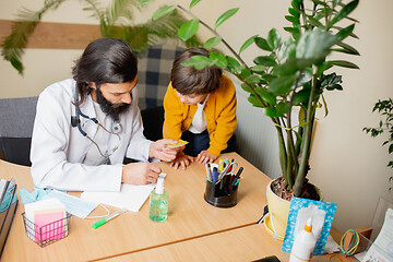
M 66 211 L 68 213 L 80 218 L 86 218 L 88 214 L 98 206 L 96 203 L 81 200 L 80 198 L 60 192 L 58 190 L 52 190 L 50 193 L 44 196 L 44 199 L 47 198 L 55 198 L 60 200 L 66 205 Z

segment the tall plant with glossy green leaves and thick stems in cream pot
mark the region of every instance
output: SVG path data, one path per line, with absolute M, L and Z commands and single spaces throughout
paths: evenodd
M 141 3 L 151 1 L 143 0 Z M 325 93 L 343 90 L 342 76 L 333 72 L 333 68 L 358 69 L 353 62 L 329 59 L 329 55 L 359 55 L 354 47 L 345 43 L 348 37 L 357 38 L 354 34 L 357 21 L 349 17 L 349 14 L 359 1 L 344 3 L 341 0 L 293 0 L 289 14 L 285 16 L 290 26 L 284 27 L 289 37 L 283 38 L 277 29 L 272 28 L 266 37 L 253 35 L 248 38 L 238 51 L 216 31 L 235 15 L 238 9 L 224 12 L 215 24 L 210 26 L 192 13 L 192 8 L 199 2 L 200 0 L 192 0 L 188 8 L 176 4 L 160 8 L 154 13 L 153 20 L 181 10 L 191 17 L 178 32 L 182 40 L 194 36 L 201 25 L 213 35 L 203 47 L 213 49 L 222 43 L 227 48 L 227 53 L 230 55 L 225 56 L 213 50 L 209 58 L 194 56 L 183 64 L 195 69 L 215 66 L 230 72 L 241 82 L 241 87 L 250 93 L 248 100 L 261 108 L 261 112 L 271 119 L 278 135 L 278 157 L 283 176 L 273 181 L 274 184 L 267 190 L 272 188 L 284 200 L 294 195 L 310 198 L 307 174 L 310 168 L 315 111 L 324 107 L 327 115 Z M 338 22 L 343 20 L 349 24 L 341 27 Z M 241 52 L 253 44 L 260 51 L 255 53 L 253 64 L 247 64 Z M 286 202 L 286 209 L 289 210 L 289 202 Z M 275 211 L 272 211 L 271 203 L 269 209 L 274 216 Z M 283 218 L 284 231 L 287 213 Z M 278 219 L 275 218 L 275 227 L 276 221 Z

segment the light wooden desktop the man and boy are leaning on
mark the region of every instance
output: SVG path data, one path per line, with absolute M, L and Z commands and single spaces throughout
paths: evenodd
M 87 261 L 146 250 L 196 237 L 207 236 L 254 224 L 261 218 L 266 205 L 265 188 L 271 180 L 250 163 L 235 153 L 221 158 L 235 158 L 245 168 L 239 184 L 238 204 L 218 209 L 204 199 L 205 167 L 193 164 L 187 170 L 174 170 L 166 163 L 157 163 L 167 174 L 166 189 L 169 192 L 169 216 L 165 223 L 148 219 L 148 205 L 140 212 L 128 212 L 98 229 L 92 224 L 97 219 L 72 217 L 69 236 L 45 248 L 38 247 L 25 236 L 17 207 L 2 260 L 4 261 Z M 14 177 L 17 187 L 32 190 L 29 168 L 0 160 L 0 176 Z M 93 215 L 103 213 L 96 210 Z

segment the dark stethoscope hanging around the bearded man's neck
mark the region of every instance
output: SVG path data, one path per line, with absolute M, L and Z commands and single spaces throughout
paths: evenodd
M 109 131 L 108 129 L 106 129 L 100 122 L 98 122 L 98 120 L 96 118 L 91 118 L 87 115 L 84 115 L 81 109 L 79 108 L 79 106 L 76 106 L 78 104 L 78 93 L 76 93 L 76 84 L 75 84 L 75 92 L 74 92 L 74 106 L 75 106 L 75 115 L 71 116 L 71 126 L 73 128 L 78 128 L 78 130 L 81 132 L 81 134 L 85 138 L 87 138 L 90 141 L 92 141 L 92 143 L 97 147 L 99 154 L 104 157 L 104 158 L 108 158 L 109 156 L 111 156 L 118 148 L 120 145 L 120 135 L 119 133 L 122 130 L 122 127 L 120 124 L 120 120 L 119 117 L 114 119 L 114 124 L 111 127 L 111 131 Z M 108 132 L 109 134 L 114 134 L 118 138 L 118 144 L 111 150 L 109 151 L 109 153 L 107 154 L 103 154 L 103 152 L 99 148 L 99 145 L 85 132 L 83 131 L 82 127 L 81 127 L 81 117 L 88 119 L 91 121 L 93 121 L 94 123 L 98 124 L 98 127 L 102 127 L 106 132 Z

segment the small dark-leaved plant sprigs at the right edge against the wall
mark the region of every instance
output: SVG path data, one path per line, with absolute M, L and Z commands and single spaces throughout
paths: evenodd
M 388 132 L 388 139 L 383 141 L 382 146 L 388 146 L 388 153 L 393 153 L 393 100 L 392 98 L 388 98 L 384 100 L 378 100 L 372 108 L 372 111 L 378 111 L 384 120 L 380 120 L 379 126 L 377 128 L 364 128 L 364 131 L 371 135 L 371 138 L 376 138 L 384 132 Z M 388 167 L 393 168 L 393 160 L 388 163 Z M 393 176 L 389 177 L 389 181 L 393 181 Z M 392 192 L 392 187 L 389 187 L 389 192 Z

